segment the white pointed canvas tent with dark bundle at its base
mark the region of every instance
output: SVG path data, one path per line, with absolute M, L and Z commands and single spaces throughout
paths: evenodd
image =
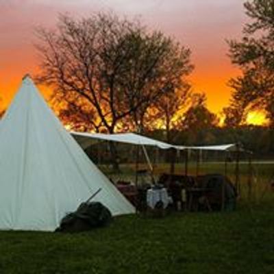
M 112 214 L 134 207 L 66 132 L 26 77 L 0 127 L 0 229 L 52 231 L 99 188 Z

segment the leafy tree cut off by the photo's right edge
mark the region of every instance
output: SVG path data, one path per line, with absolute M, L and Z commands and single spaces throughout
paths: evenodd
M 229 82 L 234 90 L 232 108 L 264 109 L 273 124 L 274 0 L 251 0 L 244 5 L 251 21 L 241 40 L 229 41 L 232 63 L 242 69 L 242 76 Z

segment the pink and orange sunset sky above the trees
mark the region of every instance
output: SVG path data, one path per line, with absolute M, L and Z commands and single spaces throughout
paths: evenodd
M 229 102 L 230 77 L 239 71 L 227 57 L 225 39 L 239 38 L 247 21 L 244 0 L 0 0 L 0 97 L 5 108 L 22 76 L 37 71 L 34 27 L 54 27 L 58 13 L 87 16 L 113 10 L 138 17 L 192 50 L 193 90 L 206 92 L 208 107 L 219 113 Z

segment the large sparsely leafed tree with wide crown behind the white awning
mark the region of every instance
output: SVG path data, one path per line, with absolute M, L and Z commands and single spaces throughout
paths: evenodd
M 37 35 L 38 81 L 71 110 L 88 105 L 85 116 L 90 111 L 96 131 L 113 133 L 129 117 L 138 121 L 138 110 L 180 88 L 192 70 L 189 49 L 114 14 L 79 21 L 62 15 L 57 29 L 40 28 Z

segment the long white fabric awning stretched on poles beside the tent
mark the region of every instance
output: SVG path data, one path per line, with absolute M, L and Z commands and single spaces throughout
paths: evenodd
M 159 147 L 160 149 L 177 149 L 177 150 L 208 150 L 208 151 L 237 151 L 238 146 L 236 144 L 226 145 L 210 145 L 210 146 L 178 146 L 171 145 L 167 142 L 154 140 L 139 134 L 134 133 L 121 133 L 121 134 L 91 134 L 87 132 L 71 132 L 75 140 L 81 145 L 83 149 L 86 149 L 90 145 L 94 144 L 95 140 L 106 140 L 113 142 L 123 142 L 132 145 L 144 145 Z

